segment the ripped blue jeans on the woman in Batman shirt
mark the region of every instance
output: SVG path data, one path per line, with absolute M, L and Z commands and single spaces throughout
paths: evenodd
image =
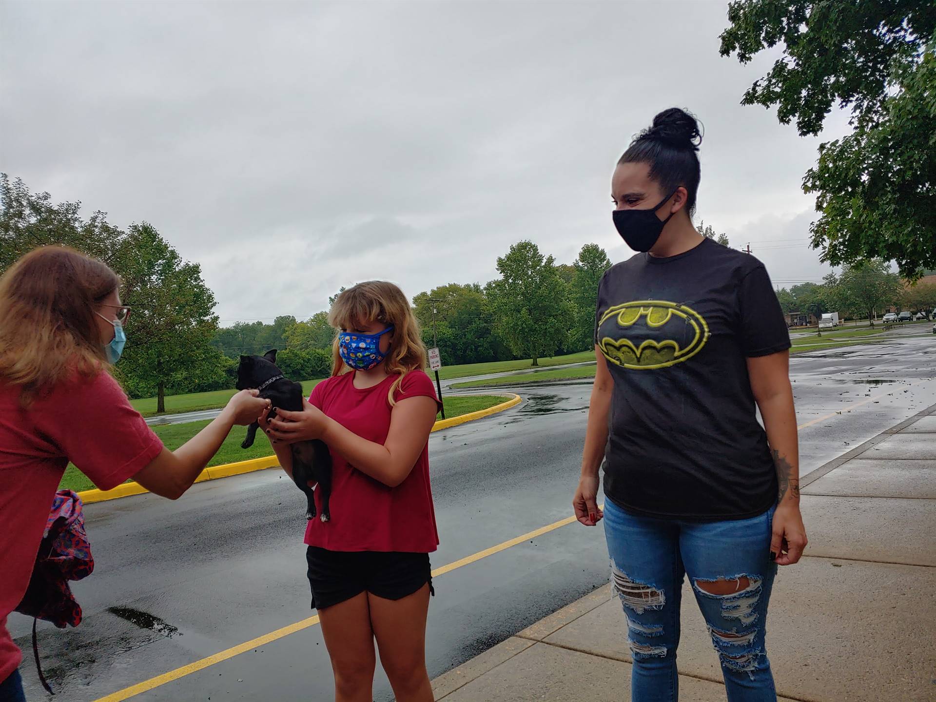
M 682 578 L 709 625 L 729 702 L 775 702 L 764 648 L 777 566 L 771 507 L 753 519 L 693 522 L 631 515 L 610 500 L 605 535 L 611 587 L 627 615 L 633 702 L 676 702 Z

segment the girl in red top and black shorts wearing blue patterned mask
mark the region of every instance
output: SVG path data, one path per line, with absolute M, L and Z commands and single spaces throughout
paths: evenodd
M 391 283 L 361 283 L 332 305 L 331 377 L 302 412 L 267 427 L 291 475 L 287 444 L 322 439 L 332 468 L 331 519 L 309 521 L 309 582 L 331 657 L 337 702 L 370 702 L 377 640 L 400 702 L 431 702 L 426 616 L 429 553 L 439 543 L 429 434 L 439 410 L 409 300 Z M 321 503 L 316 491 L 316 506 Z

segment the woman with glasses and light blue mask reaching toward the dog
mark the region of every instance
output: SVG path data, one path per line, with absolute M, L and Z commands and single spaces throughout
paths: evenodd
M 130 308 L 120 279 L 94 258 L 37 249 L 0 278 L 0 699 L 25 699 L 7 615 L 20 604 L 68 461 L 101 490 L 133 477 L 176 499 L 235 424 L 267 401 L 239 392 L 211 424 L 169 451 L 109 368 L 124 349 Z

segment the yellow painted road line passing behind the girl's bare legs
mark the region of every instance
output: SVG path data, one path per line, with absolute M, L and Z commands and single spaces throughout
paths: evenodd
M 603 508 L 605 505 L 599 506 Z M 459 561 L 443 565 L 441 568 L 436 568 L 432 571 L 432 578 L 438 578 L 441 575 L 450 573 L 453 570 L 468 565 L 469 563 L 475 563 L 476 561 L 480 561 L 482 558 L 487 558 L 488 556 L 491 556 L 495 553 L 500 553 L 507 548 L 517 546 L 524 541 L 534 539 L 536 536 L 548 534 L 549 532 L 555 531 L 556 529 L 559 529 L 566 524 L 571 524 L 575 520 L 575 517 L 566 517 L 565 519 L 554 521 L 545 527 L 540 527 L 539 529 L 534 530 L 533 532 L 521 534 L 518 537 L 512 538 L 509 541 L 498 544 L 497 546 L 485 548 L 483 551 L 478 551 L 477 553 L 474 553 L 471 556 L 466 556 Z M 148 692 L 154 688 L 159 687 L 160 685 L 165 685 L 167 682 L 171 682 L 172 680 L 178 680 L 180 678 L 184 678 L 186 675 L 197 673 L 199 670 L 203 670 L 210 665 L 227 661 L 236 655 L 240 655 L 241 653 L 245 653 L 251 649 L 256 649 L 260 646 L 264 646 L 278 638 L 283 638 L 284 636 L 295 634 L 296 632 L 302 631 L 303 629 L 308 629 L 310 626 L 314 626 L 317 623 L 318 615 L 316 614 L 314 617 L 309 617 L 308 619 L 304 619 L 301 622 L 289 624 L 288 626 L 284 626 L 282 629 L 277 629 L 276 631 L 270 632 L 270 634 L 257 636 L 256 638 L 252 638 L 250 641 L 245 641 L 244 643 L 239 644 L 238 646 L 234 646 L 233 648 L 226 649 L 225 651 L 219 651 L 213 655 L 208 656 L 207 658 L 202 658 L 195 663 L 183 665 L 182 667 L 178 667 L 175 670 L 168 671 L 168 673 L 163 673 L 162 675 L 157 675 L 155 678 L 150 678 L 150 680 L 143 680 L 142 682 L 138 682 L 136 685 L 131 685 L 130 687 L 126 687 L 123 690 L 118 690 L 116 693 L 112 693 L 111 695 L 99 697 L 95 700 L 95 702 L 122 702 L 124 699 L 129 699 L 130 697 Z

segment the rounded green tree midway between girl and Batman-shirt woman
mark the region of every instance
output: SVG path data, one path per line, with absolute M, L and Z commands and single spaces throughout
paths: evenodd
M 568 285 L 533 241 L 520 241 L 497 259 L 499 280 L 488 285 L 494 329 L 522 358 L 551 356 L 563 344 L 572 322 Z

